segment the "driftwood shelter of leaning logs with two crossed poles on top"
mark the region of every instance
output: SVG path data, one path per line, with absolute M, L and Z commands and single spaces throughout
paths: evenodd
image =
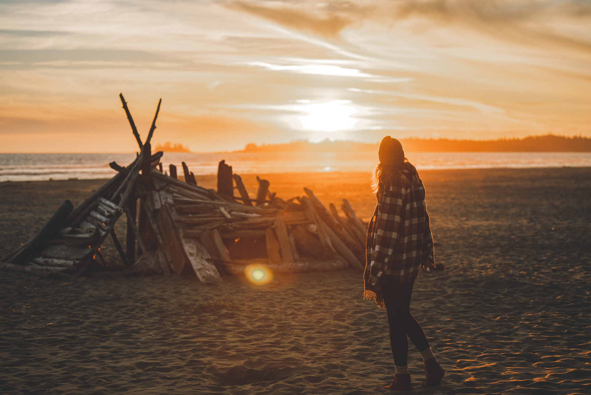
M 138 142 L 137 158 L 125 167 L 112 162 L 112 179 L 76 207 L 66 200 L 41 231 L 0 258 L 0 268 L 41 276 L 112 273 L 100 252 L 108 237 L 125 266 L 119 273 L 128 275 L 194 272 L 203 283 L 215 283 L 220 273 L 241 275 L 252 265 L 275 273 L 363 268 L 367 225 L 346 199 L 345 218 L 307 188 L 304 196 L 284 200 L 259 177 L 251 198 L 223 160 L 217 190 L 198 186 L 185 163 L 180 180 L 173 164 L 163 172 L 162 151 L 151 152 L 161 101 L 142 142 L 119 97 Z M 113 228 L 121 216 L 125 248 Z

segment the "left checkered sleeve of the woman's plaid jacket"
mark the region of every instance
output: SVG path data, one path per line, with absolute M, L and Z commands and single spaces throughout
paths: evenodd
M 392 186 L 382 196 L 378 219 L 374 233 L 374 252 L 370 264 L 369 281 L 372 285 L 388 269 L 388 259 L 392 256 L 396 242 L 401 236 L 401 224 L 404 223 L 404 212 L 407 190 Z

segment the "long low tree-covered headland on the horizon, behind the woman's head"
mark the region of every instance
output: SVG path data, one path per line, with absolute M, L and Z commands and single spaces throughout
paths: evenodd
M 447 138 L 403 138 L 407 152 L 591 152 L 591 138 L 564 137 L 553 134 L 525 138 L 499 138 L 498 140 L 450 140 Z M 377 151 L 379 143 L 358 143 L 346 140 L 324 140 L 311 143 L 295 140 L 282 144 L 247 144 L 244 150 L 234 152 L 346 152 Z

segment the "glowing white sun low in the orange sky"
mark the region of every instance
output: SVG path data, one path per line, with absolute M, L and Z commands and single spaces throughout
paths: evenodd
M 350 103 L 349 100 L 333 100 L 301 105 L 298 106 L 298 111 L 306 112 L 307 115 L 298 116 L 297 119 L 306 130 L 336 132 L 352 129 L 359 122 L 352 115 L 357 114 L 359 109 Z

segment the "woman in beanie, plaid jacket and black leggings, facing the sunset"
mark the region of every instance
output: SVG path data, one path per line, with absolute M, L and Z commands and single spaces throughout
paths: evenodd
M 414 280 L 420 268 L 433 265 L 433 236 L 425 189 L 417 169 L 404 157 L 400 141 L 384 137 L 372 185 L 378 198 L 368 229 L 368 257 L 363 274 L 365 299 L 386 309 L 394 380 L 385 388 L 410 391 L 407 335 L 421 352 L 428 386 L 439 384 L 443 369 L 429 347 L 421 325 L 410 313 Z

